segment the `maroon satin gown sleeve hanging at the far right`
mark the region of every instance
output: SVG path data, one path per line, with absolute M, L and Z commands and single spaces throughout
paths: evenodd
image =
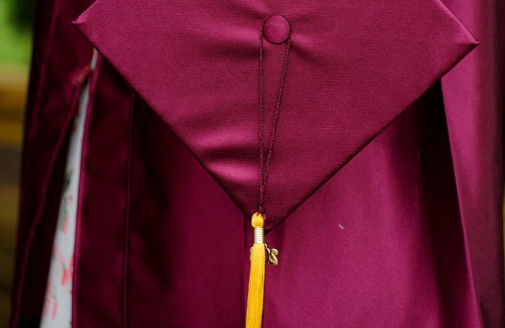
M 493 317 L 504 311 L 501 191 L 505 7 L 499 1 L 463 5 L 447 0 L 445 4 L 481 41 L 443 77 L 442 88 L 467 257 L 472 263 L 482 320 L 492 326 Z

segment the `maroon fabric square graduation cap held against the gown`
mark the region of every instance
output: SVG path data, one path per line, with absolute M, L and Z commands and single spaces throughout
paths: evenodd
M 259 204 L 260 33 L 272 14 L 292 35 L 267 232 L 478 44 L 439 0 L 98 0 L 77 28 L 247 217 Z M 289 34 L 282 16 L 265 31 L 265 149 Z

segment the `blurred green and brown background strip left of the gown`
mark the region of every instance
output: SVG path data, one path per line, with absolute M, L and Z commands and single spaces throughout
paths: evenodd
M 0 0 L 0 327 L 7 327 L 34 0 Z

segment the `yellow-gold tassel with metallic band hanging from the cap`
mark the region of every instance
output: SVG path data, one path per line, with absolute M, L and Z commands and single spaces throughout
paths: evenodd
M 254 245 L 251 248 L 251 270 L 249 274 L 249 290 L 247 292 L 246 328 L 261 328 L 263 321 L 263 298 L 265 291 L 265 230 L 263 215 L 259 212 L 252 215 L 254 228 Z

